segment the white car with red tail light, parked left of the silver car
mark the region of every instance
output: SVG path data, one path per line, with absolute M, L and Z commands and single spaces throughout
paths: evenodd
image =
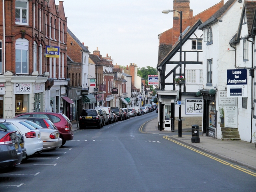
M 4 122 L 5 119 L 0 119 Z M 24 119 L 6 119 L 6 122 L 10 122 L 18 127 L 24 136 L 24 147 L 26 147 L 26 158 L 30 155 L 42 152 L 43 150 L 43 141 L 41 139 L 41 133 L 38 129 L 24 122 Z

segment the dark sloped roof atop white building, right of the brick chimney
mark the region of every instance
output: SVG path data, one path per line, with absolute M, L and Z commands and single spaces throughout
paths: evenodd
M 217 22 L 236 2 L 237 0 L 228 0 L 218 11 L 216 11 L 206 22 L 198 27 L 198 29 L 203 29 L 209 24 Z

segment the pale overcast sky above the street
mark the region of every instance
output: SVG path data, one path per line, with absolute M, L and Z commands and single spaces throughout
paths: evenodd
M 56 5 L 59 4 L 55 0 Z M 190 0 L 194 16 L 220 0 Z M 227 0 L 224 1 L 224 3 Z M 172 28 L 173 0 L 64 0 L 68 28 L 93 53 L 113 63 L 156 67 L 158 34 Z

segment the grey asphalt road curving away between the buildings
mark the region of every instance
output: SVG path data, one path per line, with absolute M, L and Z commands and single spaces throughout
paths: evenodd
M 248 192 L 256 178 L 165 139 L 141 133 L 152 112 L 77 130 L 74 141 L 0 173 L 1 192 Z

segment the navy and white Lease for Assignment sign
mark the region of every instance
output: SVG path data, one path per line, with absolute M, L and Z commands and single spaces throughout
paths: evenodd
M 247 69 L 227 69 L 228 97 L 248 97 Z

